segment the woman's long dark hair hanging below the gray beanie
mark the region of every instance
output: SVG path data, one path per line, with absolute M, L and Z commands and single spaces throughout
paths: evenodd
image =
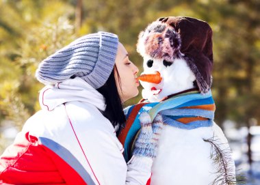
M 96 89 L 99 91 L 105 98 L 106 108 L 103 112 L 103 115 L 109 119 L 113 126 L 119 124 L 122 126 L 126 122 L 125 113 L 123 111 L 122 101 L 118 94 L 118 89 L 116 86 L 116 79 L 114 74 L 117 74 L 119 85 L 121 89 L 120 77 L 116 66 L 114 66 L 113 72 L 108 77 L 107 81 L 102 87 Z M 122 90 L 122 89 L 121 89 Z

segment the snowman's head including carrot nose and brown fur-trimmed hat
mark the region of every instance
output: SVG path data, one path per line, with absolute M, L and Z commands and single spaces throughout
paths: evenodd
M 197 87 L 209 91 L 213 64 L 211 29 L 195 18 L 159 18 L 139 35 L 144 59 L 142 96 L 151 102 Z

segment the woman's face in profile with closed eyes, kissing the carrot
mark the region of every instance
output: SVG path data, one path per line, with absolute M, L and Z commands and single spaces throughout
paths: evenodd
M 116 87 L 122 101 L 129 100 L 138 95 L 139 81 L 137 79 L 138 68 L 129 60 L 128 53 L 124 46 L 119 42 L 118 51 L 116 53 L 116 70 L 114 71 L 116 78 Z

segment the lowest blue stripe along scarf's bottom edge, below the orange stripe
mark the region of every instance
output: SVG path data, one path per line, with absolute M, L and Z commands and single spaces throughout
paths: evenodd
M 163 118 L 165 124 L 174 126 L 176 128 L 187 129 L 187 130 L 192 130 L 200 127 L 210 127 L 213 125 L 213 120 L 211 119 L 205 121 L 200 120 L 200 121 L 190 122 L 189 124 L 183 124 L 174 119 L 170 119 L 169 117 L 166 116 L 163 116 Z

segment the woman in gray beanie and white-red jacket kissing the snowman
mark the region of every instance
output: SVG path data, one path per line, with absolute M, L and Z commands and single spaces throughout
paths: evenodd
M 159 130 L 147 119 L 126 164 L 115 129 L 125 122 L 122 102 L 138 94 L 137 73 L 118 37 L 106 32 L 44 59 L 36 71 L 47 85 L 40 91 L 42 110 L 1 156 L 0 182 L 146 184 Z

